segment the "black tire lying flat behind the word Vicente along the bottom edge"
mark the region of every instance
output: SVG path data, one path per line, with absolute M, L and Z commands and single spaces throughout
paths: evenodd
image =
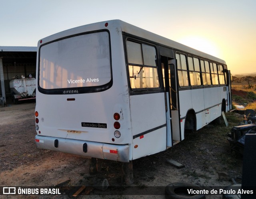
M 166 198 L 170 199 L 205 199 L 204 194 L 189 194 L 188 189 L 196 191 L 202 190 L 201 187 L 190 183 L 171 183 L 165 187 Z

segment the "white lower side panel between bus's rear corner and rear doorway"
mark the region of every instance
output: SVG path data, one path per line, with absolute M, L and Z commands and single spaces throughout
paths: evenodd
M 130 96 L 130 112 L 133 160 L 166 150 L 164 93 Z M 135 145 L 138 145 L 137 149 L 134 149 Z

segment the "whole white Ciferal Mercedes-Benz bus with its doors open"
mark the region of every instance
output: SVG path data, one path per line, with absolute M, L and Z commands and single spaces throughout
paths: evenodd
M 36 146 L 129 162 L 232 106 L 225 61 L 120 20 L 38 41 Z

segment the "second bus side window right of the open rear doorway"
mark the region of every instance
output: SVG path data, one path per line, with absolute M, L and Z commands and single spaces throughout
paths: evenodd
M 189 69 L 191 86 L 200 86 L 201 79 L 200 79 L 199 59 L 195 57 L 188 57 L 188 69 Z

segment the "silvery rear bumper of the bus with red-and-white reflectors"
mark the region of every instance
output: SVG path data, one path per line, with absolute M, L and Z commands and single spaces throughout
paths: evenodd
M 40 149 L 75 154 L 88 158 L 129 162 L 129 145 L 105 144 L 39 135 L 36 135 L 35 140 L 36 146 Z

